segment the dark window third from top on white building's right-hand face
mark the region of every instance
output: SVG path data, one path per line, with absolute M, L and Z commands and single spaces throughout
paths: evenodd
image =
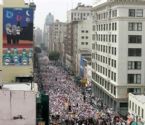
M 128 43 L 142 43 L 142 36 L 141 35 L 129 35 Z

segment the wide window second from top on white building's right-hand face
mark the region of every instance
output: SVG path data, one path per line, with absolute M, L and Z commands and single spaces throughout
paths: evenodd
M 142 31 L 142 23 L 129 22 L 128 30 L 129 31 Z

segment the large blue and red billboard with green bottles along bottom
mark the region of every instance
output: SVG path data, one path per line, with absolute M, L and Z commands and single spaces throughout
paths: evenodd
M 31 65 L 33 53 L 33 10 L 3 9 L 3 65 Z

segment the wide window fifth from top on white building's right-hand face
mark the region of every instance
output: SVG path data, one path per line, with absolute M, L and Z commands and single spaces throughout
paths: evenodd
M 141 61 L 129 61 L 128 69 L 141 69 Z

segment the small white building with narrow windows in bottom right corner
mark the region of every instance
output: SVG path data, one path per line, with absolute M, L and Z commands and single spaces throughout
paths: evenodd
M 145 95 L 129 93 L 128 104 L 128 112 L 135 117 L 135 120 L 141 119 L 145 123 Z

